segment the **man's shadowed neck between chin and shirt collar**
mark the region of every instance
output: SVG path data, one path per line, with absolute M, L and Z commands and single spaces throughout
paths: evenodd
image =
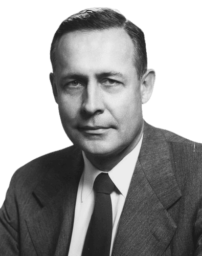
M 87 159 L 98 169 L 102 170 L 103 172 L 109 172 L 112 168 L 114 168 L 125 156 L 127 156 L 134 147 L 137 146 L 138 142 L 140 141 L 143 134 L 143 127 L 141 132 L 135 138 L 134 142 L 129 144 L 128 146 L 124 147 L 121 151 L 111 153 L 105 156 L 97 156 L 93 154 L 85 153 Z

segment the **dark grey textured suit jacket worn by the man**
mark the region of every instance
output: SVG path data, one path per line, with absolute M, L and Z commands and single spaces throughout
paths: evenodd
M 202 255 L 201 152 L 144 123 L 113 256 Z M 68 255 L 82 170 L 81 151 L 70 146 L 14 173 L 0 212 L 1 255 Z

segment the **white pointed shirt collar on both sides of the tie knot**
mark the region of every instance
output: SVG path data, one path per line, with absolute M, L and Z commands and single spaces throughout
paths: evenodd
M 126 155 L 113 169 L 108 172 L 110 179 L 114 182 L 116 187 L 119 189 L 121 194 L 126 198 L 128 193 L 128 188 L 130 185 L 130 180 L 136 167 L 136 162 L 140 153 L 140 148 L 142 144 L 143 135 L 133 150 Z M 84 159 L 84 172 L 82 175 L 82 202 L 92 193 L 93 184 L 96 177 L 100 173 L 104 173 L 98 168 L 96 168 L 85 156 L 82 151 Z

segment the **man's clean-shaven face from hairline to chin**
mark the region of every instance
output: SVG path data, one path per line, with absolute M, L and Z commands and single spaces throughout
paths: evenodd
M 143 118 L 129 35 L 122 29 L 70 32 L 56 54 L 53 91 L 66 135 L 88 155 L 130 152 Z

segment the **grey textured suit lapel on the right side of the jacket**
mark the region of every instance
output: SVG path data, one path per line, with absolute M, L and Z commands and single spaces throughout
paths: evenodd
M 162 255 L 176 230 L 166 210 L 181 197 L 169 147 L 160 132 L 147 123 L 144 125 L 142 147 L 120 218 L 113 256 Z

